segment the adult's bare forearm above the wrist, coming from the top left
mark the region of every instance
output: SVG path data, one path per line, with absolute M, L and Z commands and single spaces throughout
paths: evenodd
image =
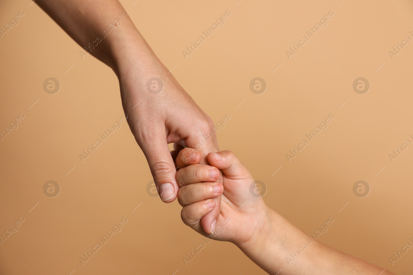
M 133 66 L 159 70 L 161 63 L 117 0 L 37 0 L 86 54 L 96 56 L 120 73 Z

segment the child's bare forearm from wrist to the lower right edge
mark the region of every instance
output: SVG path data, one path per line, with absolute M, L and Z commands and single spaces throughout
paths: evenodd
M 389 275 L 371 263 L 328 247 L 303 233 L 268 208 L 269 221 L 255 239 L 240 244 L 242 251 L 270 274 Z

